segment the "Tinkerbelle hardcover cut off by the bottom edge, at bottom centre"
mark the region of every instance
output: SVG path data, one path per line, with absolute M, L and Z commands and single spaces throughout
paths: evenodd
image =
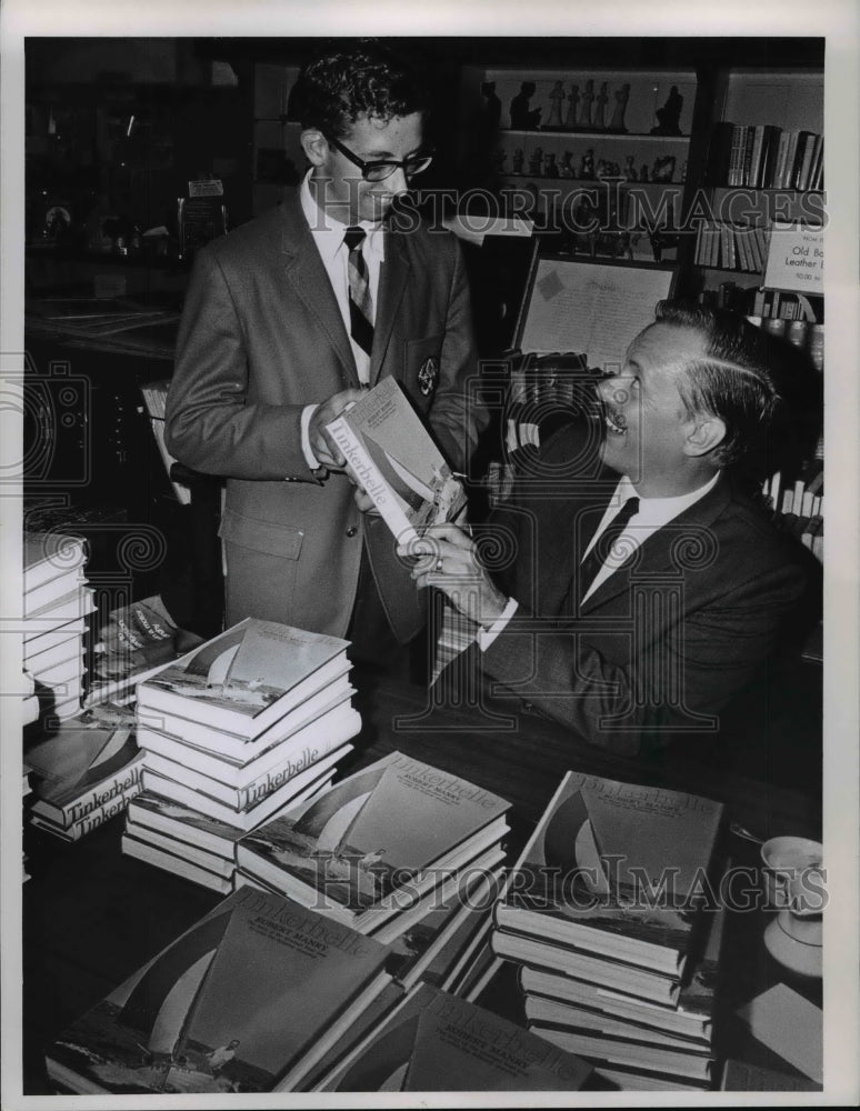
M 507 1019 L 422 983 L 321 1090 L 578 1091 L 591 1072 Z

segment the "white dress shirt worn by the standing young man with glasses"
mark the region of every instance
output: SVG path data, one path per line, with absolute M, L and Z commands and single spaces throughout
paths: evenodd
M 347 330 L 347 336 L 349 336 L 352 354 L 356 359 L 359 381 L 363 386 L 367 386 L 370 382 L 370 357 L 350 336 L 349 272 L 347 266 L 349 249 L 343 242 L 343 236 L 348 226 L 340 220 L 336 220 L 334 217 L 319 207 L 311 196 L 309 184 L 310 174 L 311 171 L 309 170 L 299 188 L 301 210 L 304 213 L 304 219 L 308 221 L 313 242 L 317 244 L 317 250 L 320 253 L 320 259 L 326 268 L 326 273 L 329 276 L 331 288 L 338 301 L 338 308 L 343 318 L 343 327 Z M 352 227 L 352 224 L 349 227 Z M 363 228 L 366 232 L 361 251 L 368 268 L 368 284 L 376 313 L 377 297 L 379 293 L 379 273 L 386 258 L 384 228 L 381 223 L 371 223 L 368 220 L 362 220 L 356 227 Z M 317 406 L 307 406 L 301 414 L 301 447 L 311 470 L 316 470 L 320 466 L 311 450 L 308 436 L 310 420 L 316 409 Z

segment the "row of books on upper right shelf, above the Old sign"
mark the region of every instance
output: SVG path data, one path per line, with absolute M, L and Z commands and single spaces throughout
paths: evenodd
M 708 180 L 750 189 L 822 189 L 823 136 L 768 123 L 722 121 L 711 137 Z

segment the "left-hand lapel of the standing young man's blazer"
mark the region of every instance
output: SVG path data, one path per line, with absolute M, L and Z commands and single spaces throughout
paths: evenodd
M 281 209 L 286 220 L 281 237 L 284 280 L 326 332 L 343 366 L 349 384 L 358 388 L 360 383 L 356 360 L 343 327 L 343 318 L 320 252 L 301 211 L 298 190 L 294 196 L 289 197 L 289 200 L 284 200 Z

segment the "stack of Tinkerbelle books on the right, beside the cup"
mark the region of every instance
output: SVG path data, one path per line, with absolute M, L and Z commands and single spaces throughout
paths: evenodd
M 720 803 L 568 772 L 496 908 L 529 1028 L 624 1090 L 706 1089 Z

